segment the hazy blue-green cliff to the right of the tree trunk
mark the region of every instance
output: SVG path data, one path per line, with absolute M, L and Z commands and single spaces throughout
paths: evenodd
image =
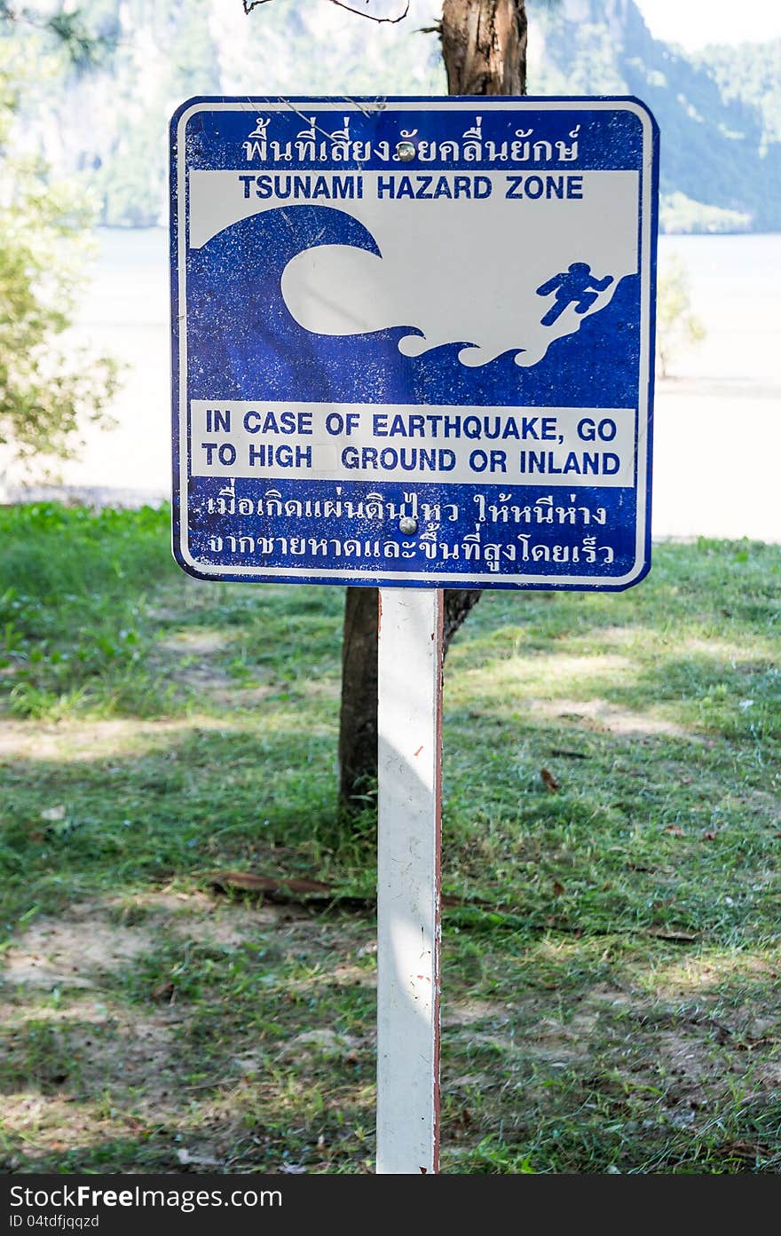
M 526 9 L 530 94 L 630 94 L 654 112 L 665 230 L 781 229 L 781 41 L 690 56 L 652 38 L 633 0 Z

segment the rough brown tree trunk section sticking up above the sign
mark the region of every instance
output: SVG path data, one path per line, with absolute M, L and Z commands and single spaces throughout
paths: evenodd
M 526 93 L 524 0 L 444 0 L 449 94 Z

